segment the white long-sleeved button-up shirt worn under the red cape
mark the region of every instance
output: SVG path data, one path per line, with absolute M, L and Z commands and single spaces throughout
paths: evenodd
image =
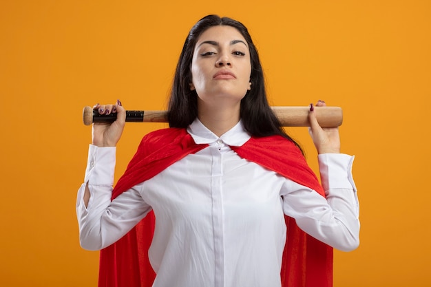
M 349 251 L 359 244 L 359 204 L 353 157 L 319 155 L 326 199 L 230 147 L 249 140 L 242 123 L 218 137 L 195 120 L 188 129 L 209 147 L 189 154 L 111 202 L 114 147 L 90 145 L 76 212 L 81 246 L 99 250 L 154 210 L 149 250 L 154 287 L 277 287 L 286 240 L 284 214 L 306 233 Z M 90 201 L 83 193 L 88 182 Z

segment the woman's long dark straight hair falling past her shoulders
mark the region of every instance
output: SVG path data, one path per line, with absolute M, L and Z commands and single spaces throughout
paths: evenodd
M 221 18 L 217 15 L 208 15 L 200 19 L 191 28 L 182 47 L 169 100 L 169 126 L 187 127 L 198 116 L 198 96 L 195 90 L 191 91 L 190 89 L 191 61 L 199 36 L 208 28 L 216 25 L 228 25 L 237 29 L 249 45 L 251 90 L 242 98 L 240 105 L 240 116 L 246 131 L 256 137 L 280 135 L 295 142 L 286 134 L 277 116 L 269 106 L 259 54 L 247 28 L 238 21 L 227 17 Z M 295 145 L 297 145 L 296 142 Z M 299 145 L 297 146 L 299 147 Z

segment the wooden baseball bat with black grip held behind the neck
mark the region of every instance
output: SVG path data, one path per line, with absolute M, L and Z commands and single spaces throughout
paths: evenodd
M 283 127 L 309 127 L 310 107 L 271 107 Z M 341 107 L 314 107 L 317 121 L 321 127 L 339 127 L 343 123 Z M 116 113 L 101 115 L 92 107 L 84 107 L 84 125 L 92 123 L 112 123 Z M 126 122 L 167 123 L 167 111 L 126 111 Z

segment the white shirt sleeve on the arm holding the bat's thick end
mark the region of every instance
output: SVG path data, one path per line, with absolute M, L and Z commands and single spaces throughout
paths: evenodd
M 283 210 L 299 228 L 341 251 L 359 246 L 359 201 L 352 176 L 353 156 L 319 155 L 319 171 L 326 198 L 286 180 L 282 187 Z

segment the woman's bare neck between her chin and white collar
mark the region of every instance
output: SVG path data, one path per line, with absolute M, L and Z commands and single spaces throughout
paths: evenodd
M 198 118 L 216 136 L 222 136 L 240 121 L 240 105 L 211 109 L 198 105 Z

